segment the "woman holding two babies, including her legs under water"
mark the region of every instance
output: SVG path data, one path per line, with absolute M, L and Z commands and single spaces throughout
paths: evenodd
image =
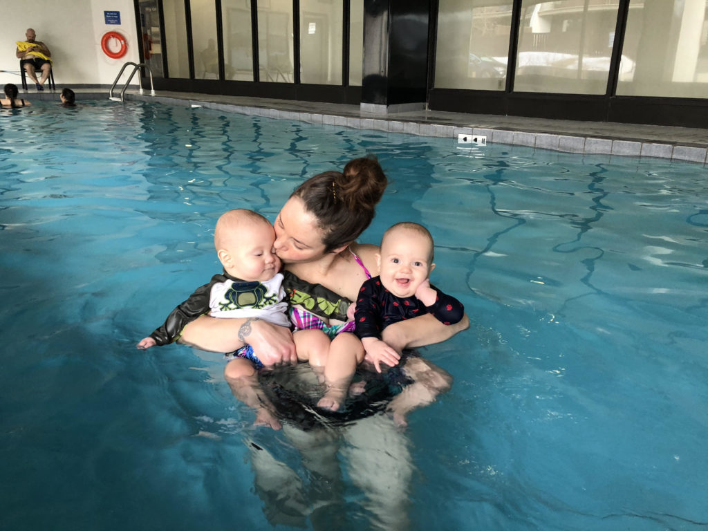
M 387 178 L 375 158 L 354 159 L 342 173 L 327 171 L 302 183 L 275 219 L 274 247 L 285 269 L 305 284 L 330 290 L 333 295 L 330 298 L 338 300 L 328 300 L 329 307 L 338 307 L 340 313 L 342 309 L 346 312 L 349 302 L 355 300 L 362 283 L 378 273 L 375 258 L 378 247 L 357 244 L 355 240 L 372 221 L 375 206 L 386 186 Z M 404 348 L 445 341 L 467 326 L 467 316 L 457 324 L 446 326 L 428 314 L 388 326 L 382 338 L 401 353 Z M 200 316 L 185 326 L 181 341 L 217 352 L 230 352 L 249 343 L 264 365 L 297 360 L 290 331 L 256 319 Z M 399 359 L 400 355 L 387 355 L 371 361 L 394 367 Z M 450 386 L 446 373 L 422 358 L 410 358 L 405 363 L 403 379 L 409 385 L 393 399 L 389 395 L 383 400 L 388 401 L 389 409 L 397 418 L 404 418 L 411 409 L 433 401 L 439 392 Z M 231 368 L 227 364 L 224 376 L 234 387 L 237 384 Z M 399 382 L 391 384 L 396 386 Z M 273 387 L 265 388 L 268 389 L 272 391 Z M 280 387 L 276 385 L 275 389 Z M 366 407 L 372 405 L 367 400 L 366 397 Z M 275 403 L 275 399 L 270 401 Z M 306 405 L 303 411 L 312 409 Z M 249 444 L 256 472 L 256 491 L 266 502 L 265 513 L 271 523 L 294 523 L 288 519 L 295 517 L 302 524 L 304 518 L 309 517 L 313 523 L 324 518 L 327 528 L 337 527 L 333 521 L 344 514 L 337 508 L 345 503 L 341 467 L 346 467 L 348 477 L 365 493 L 362 506 L 375 518 L 374 527 L 406 528 L 409 482 L 413 474 L 409 442 L 392 417 L 373 413 L 375 411 L 370 409 L 369 413 L 358 416 L 358 420 L 346 418 L 337 429 L 333 429 L 334 425 L 322 424 L 298 426 L 297 421 L 282 426 L 288 440 L 302 456 L 310 478 L 306 481 L 268 452 L 266 445 L 270 444 L 270 438 L 258 445 Z M 276 416 L 270 426 L 281 427 Z M 346 444 L 342 444 L 342 440 L 346 440 Z M 285 506 L 283 500 L 287 501 Z M 313 512 L 313 507 L 319 508 Z

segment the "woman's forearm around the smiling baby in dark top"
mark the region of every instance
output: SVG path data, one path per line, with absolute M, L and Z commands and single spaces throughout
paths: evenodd
M 401 352 L 404 348 L 422 347 L 440 343 L 469 328 L 467 314 L 455 324 L 442 324 L 432 314 L 421 315 L 389 325 L 384 329 L 382 339 Z

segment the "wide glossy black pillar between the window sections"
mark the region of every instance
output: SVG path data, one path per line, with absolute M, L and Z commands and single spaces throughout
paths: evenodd
M 430 0 L 364 0 L 362 110 L 423 108 Z

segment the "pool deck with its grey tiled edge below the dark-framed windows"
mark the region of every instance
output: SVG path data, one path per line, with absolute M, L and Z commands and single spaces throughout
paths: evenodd
M 75 91 L 77 100 L 108 98 L 108 90 Z M 119 91 L 114 91 L 114 94 L 119 94 Z M 30 101 L 58 101 L 59 98 L 56 91 L 29 91 L 23 96 L 28 96 Z M 708 156 L 708 129 L 692 127 L 547 120 L 436 110 L 379 114 L 364 112 L 359 105 L 169 91 L 157 91 L 155 96 L 150 96 L 149 90 L 140 95 L 133 89 L 125 93 L 125 98 L 129 101 L 202 105 L 230 113 L 430 137 L 484 136 L 488 143 L 500 142 L 569 153 L 656 157 L 704 165 Z

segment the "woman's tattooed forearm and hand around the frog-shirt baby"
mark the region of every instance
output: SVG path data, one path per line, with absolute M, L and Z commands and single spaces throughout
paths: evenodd
M 216 319 L 202 315 L 185 327 L 179 341 L 213 352 L 233 352 L 247 343 L 263 365 L 297 362 L 290 329 L 253 317 Z

